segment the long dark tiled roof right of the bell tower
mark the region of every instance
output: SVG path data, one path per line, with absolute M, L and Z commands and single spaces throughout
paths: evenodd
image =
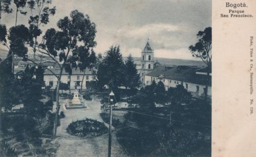
M 191 66 L 155 66 L 154 70 L 146 75 L 154 77 L 163 75 L 166 79 L 205 85 L 206 75 L 196 74 L 196 70 L 198 68 Z M 211 85 L 211 76 L 209 85 Z

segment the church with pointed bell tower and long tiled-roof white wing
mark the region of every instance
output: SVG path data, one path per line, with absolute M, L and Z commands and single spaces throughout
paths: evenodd
M 182 84 L 194 97 L 203 97 L 208 84 L 207 95 L 211 96 L 211 70 L 207 82 L 206 68 L 195 65 L 161 65 L 154 62 L 154 50 L 147 41 L 141 52 L 140 73 L 142 85 L 150 85 L 153 81 L 162 81 L 166 91 L 169 87 Z

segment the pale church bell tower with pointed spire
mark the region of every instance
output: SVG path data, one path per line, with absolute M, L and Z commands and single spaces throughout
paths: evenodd
M 146 42 L 146 46 L 141 52 L 141 69 L 140 78 L 143 85 L 145 85 L 145 74 L 154 70 L 154 50 L 151 48 L 150 43 Z

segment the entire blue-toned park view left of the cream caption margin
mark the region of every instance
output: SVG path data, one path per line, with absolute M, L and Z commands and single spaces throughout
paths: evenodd
M 211 155 L 211 1 L 0 6 L 0 156 Z

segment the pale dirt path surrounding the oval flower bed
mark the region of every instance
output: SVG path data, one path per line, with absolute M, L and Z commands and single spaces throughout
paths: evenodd
M 108 156 L 108 133 L 100 137 L 87 136 L 80 138 L 71 136 L 66 131 L 71 122 L 84 118 L 103 122 L 99 116 L 101 112 L 100 100 L 86 101 L 86 105 L 89 107 L 86 110 L 65 110 L 63 105 L 68 101 L 68 99 L 60 98 L 60 111 L 63 111 L 66 117 L 60 120 L 60 126 L 57 128 L 57 138 L 53 141 L 60 145 L 56 156 Z M 127 156 L 116 139 L 115 131 L 112 135 L 112 156 Z

